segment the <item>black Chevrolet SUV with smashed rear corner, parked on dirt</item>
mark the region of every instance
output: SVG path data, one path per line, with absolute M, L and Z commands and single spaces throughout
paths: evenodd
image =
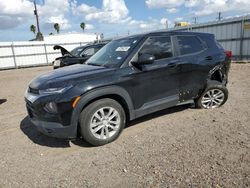
M 92 145 L 115 140 L 126 122 L 194 102 L 216 108 L 228 98 L 230 55 L 214 35 L 154 32 L 115 39 L 83 65 L 36 77 L 28 114 L 46 135 Z

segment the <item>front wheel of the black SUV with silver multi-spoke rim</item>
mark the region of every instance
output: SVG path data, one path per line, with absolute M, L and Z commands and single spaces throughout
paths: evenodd
M 116 140 L 122 132 L 126 115 L 113 99 L 100 99 L 89 104 L 80 114 L 80 132 L 85 141 L 101 146 Z

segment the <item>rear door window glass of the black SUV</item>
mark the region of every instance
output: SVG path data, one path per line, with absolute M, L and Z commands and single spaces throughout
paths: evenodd
M 178 36 L 177 41 L 181 55 L 203 50 L 203 45 L 196 36 Z

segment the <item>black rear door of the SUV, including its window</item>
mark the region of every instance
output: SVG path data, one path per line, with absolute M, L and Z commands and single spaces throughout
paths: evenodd
M 180 66 L 180 100 L 195 98 L 204 88 L 212 57 L 206 44 L 195 35 L 174 37 Z

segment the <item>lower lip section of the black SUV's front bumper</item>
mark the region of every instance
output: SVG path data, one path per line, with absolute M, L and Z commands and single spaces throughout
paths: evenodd
M 63 126 L 60 123 L 46 122 L 34 118 L 30 118 L 30 120 L 39 132 L 47 136 L 62 139 L 74 139 L 77 136 L 76 127 L 74 126 Z

